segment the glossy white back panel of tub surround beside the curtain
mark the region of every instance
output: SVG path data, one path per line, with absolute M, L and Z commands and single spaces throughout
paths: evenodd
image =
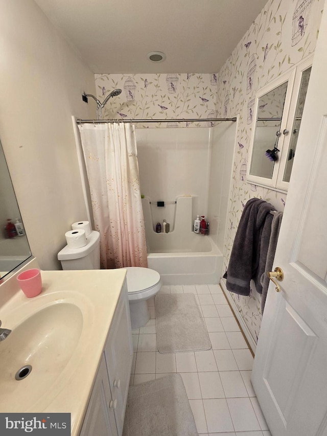
M 177 196 L 189 194 L 195 196 L 193 220 L 197 214 L 206 215 L 209 131 L 208 127 L 136 129 L 142 194 L 151 202 L 175 201 Z M 151 212 L 154 226 L 164 219 L 173 224 L 174 205 L 164 208 L 151 205 Z

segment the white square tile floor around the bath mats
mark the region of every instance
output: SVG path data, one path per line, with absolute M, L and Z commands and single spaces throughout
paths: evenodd
M 213 349 L 191 353 L 156 351 L 155 307 L 151 319 L 133 330 L 130 384 L 168 373 L 182 376 L 200 436 L 271 436 L 250 383 L 253 357 L 219 285 L 162 286 L 160 293 L 193 292 Z

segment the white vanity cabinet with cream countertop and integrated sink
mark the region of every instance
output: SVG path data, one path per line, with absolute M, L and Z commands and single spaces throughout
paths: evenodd
M 126 270 L 41 271 L 32 299 L 18 272 L 0 283 L 12 330 L 0 342 L 0 412 L 69 412 L 72 436 L 121 436 L 133 357 Z

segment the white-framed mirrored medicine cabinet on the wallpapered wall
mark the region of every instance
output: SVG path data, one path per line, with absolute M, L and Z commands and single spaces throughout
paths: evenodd
M 248 182 L 287 191 L 311 64 L 312 57 L 256 93 Z

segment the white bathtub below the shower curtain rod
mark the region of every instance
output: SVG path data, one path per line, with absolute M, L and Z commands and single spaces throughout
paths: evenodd
M 222 254 L 210 236 L 189 232 L 181 243 L 174 232 L 156 235 L 148 247 L 148 267 L 158 271 L 164 285 L 218 283 Z

